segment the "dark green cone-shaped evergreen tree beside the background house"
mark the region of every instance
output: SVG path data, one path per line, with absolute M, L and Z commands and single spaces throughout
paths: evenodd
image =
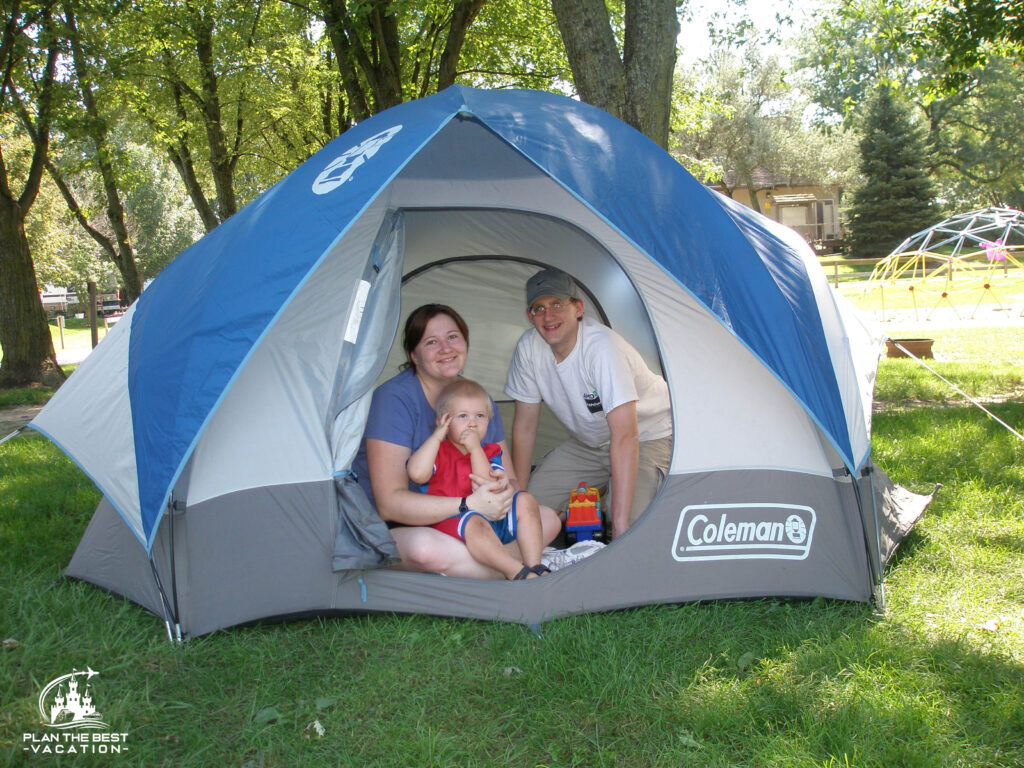
M 863 132 L 865 181 L 847 212 L 847 243 L 854 258 L 880 258 L 934 223 L 939 213 L 924 134 L 888 87 L 881 86 L 868 101 Z

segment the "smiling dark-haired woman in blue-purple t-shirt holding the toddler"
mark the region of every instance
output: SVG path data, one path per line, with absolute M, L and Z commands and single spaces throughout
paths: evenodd
M 362 445 L 353 465 L 359 485 L 380 516 L 398 524 L 391 528 L 391 536 L 401 555 L 399 567 L 500 579 L 501 573 L 476 562 L 462 542 L 425 527 L 458 514 L 463 500 L 422 494 L 411 485 L 406 472 L 409 457 L 434 430 L 437 394 L 466 365 L 469 329 L 452 307 L 425 304 L 406 321 L 402 346 L 408 362 L 374 392 Z M 497 442 L 509 456 L 501 419 L 490 420 L 484 441 Z M 476 489 L 466 498 L 469 509 L 490 520 L 508 512 L 519 484 L 511 461 L 506 465 L 505 474 L 474 478 Z M 544 541 L 549 543 L 561 522 L 548 507 L 541 508 L 541 519 Z

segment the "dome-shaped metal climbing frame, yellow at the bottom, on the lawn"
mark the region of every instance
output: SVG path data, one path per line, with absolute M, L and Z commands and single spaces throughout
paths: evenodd
M 1024 212 L 985 208 L 951 216 L 907 238 L 876 264 L 864 292 L 879 291 L 883 317 L 886 287 L 891 292 L 907 292 L 919 319 L 920 308 L 930 305 L 926 319 L 931 319 L 943 304 L 961 319 L 952 298 L 970 296 L 971 301 L 977 297 L 973 319 L 986 298 L 1007 309 L 997 289 L 1000 281 L 1011 279 L 1011 269 L 1024 270 L 1022 260 Z M 1022 274 L 1015 271 L 1013 276 Z

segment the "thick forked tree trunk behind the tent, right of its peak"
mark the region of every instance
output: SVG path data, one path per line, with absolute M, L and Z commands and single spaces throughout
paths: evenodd
M 669 146 L 676 0 L 625 0 L 623 46 L 605 0 L 551 0 L 580 97 Z

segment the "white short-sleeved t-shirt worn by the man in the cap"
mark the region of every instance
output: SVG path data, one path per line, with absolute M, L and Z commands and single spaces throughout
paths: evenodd
M 590 317 L 580 321 L 575 346 L 561 362 L 537 329 L 519 337 L 505 392 L 520 402 L 547 402 L 572 436 L 591 447 L 608 444 L 608 412 L 633 400 L 641 440 L 672 434 L 665 379 L 622 336 Z

